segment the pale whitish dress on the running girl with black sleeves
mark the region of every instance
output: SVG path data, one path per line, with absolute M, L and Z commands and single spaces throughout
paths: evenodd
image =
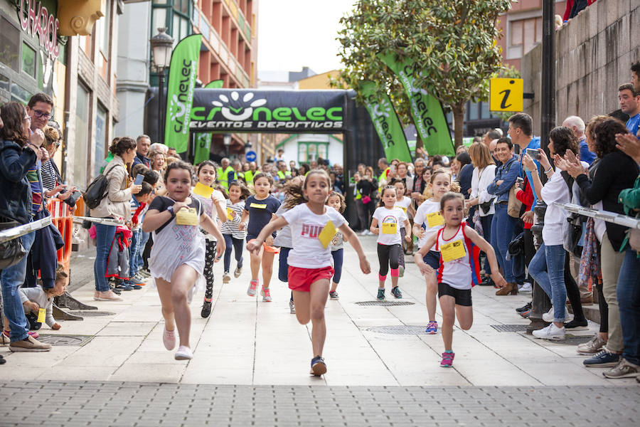
M 198 203 L 198 226 L 178 226 L 176 216 L 154 231 L 154 246 L 149 256 L 151 277 L 171 282 L 174 271 L 183 264 L 196 270 L 200 278 L 205 266 L 205 239 L 200 232 L 202 204 Z

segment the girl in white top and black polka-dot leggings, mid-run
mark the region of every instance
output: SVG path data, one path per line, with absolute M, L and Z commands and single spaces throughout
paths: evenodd
M 198 165 L 196 177 L 200 184 L 213 187 L 215 184 L 215 163 L 205 160 Z M 213 190 L 211 196 L 204 197 L 191 191 L 193 199 L 198 199 L 202 204 L 202 209 L 215 225 L 218 225 L 218 218 L 221 222 L 227 221 L 227 211 L 225 211 L 226 201 L 220 190 Z M 216 238 L 206 231 L 202 231 L 205 236 L 205 269 L 204 278 L 206 281 L 205 296 L 202 302 L 201 317 L 207 318 L 211 314 L 211 304 L 213 300 L 213 264 L 215 261 L 215 246 L 218 244 Z

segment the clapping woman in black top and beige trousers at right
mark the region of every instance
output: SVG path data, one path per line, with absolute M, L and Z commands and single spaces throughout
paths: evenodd
M 616 119 L 604 120 L 594 128 L 595 153 L 600 159 L 597 173 L 588 177 L 585 169 L 575 156 L 569 156 L 567 172 L 575 178 L 580 191 L 590 204 L 602 202 L 604 211 L 624 215 L 624 206 L 618 201 L 620 191 L 634 186 L 638 176 L 638 165 L 634 159 L 616 148 L 616 135 L 625 134 L 626 126 Z M 612 367 L 622 354 L 622 328 L 616 297 L 618 273 L 622 267 L 624 253 L 619 253 L 627 228 L 614 223 L 606 223 L 607 231 L 602 237 L 600 248 L 600 266 L 602 268 L 602 292 L 609 305 L 609 339 L 607 349 L 585 360 L 589 367 Z

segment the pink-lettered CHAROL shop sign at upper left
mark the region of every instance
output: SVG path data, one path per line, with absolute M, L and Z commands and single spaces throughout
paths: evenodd
M 18 1 L 20 1 L 20 24 L 23 31 L 31 36 L 37 35 L 40 38 L 40 46 L 55 60 L 60 52 L 58 47 L 60 22 L 49 13 L 46 6 L 43 6 L 42 1 Z

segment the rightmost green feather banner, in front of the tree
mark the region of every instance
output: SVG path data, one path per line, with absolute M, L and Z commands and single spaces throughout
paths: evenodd
M 426 90 L 415 87 L 414 63 L 409 58 L 400 63 L 393 54 L 378 53 L 378 58 L 398 76 L 409 97 L 411 115 L 422 145 L 430 156 L 454 156 L 454 144 L 442 105 Z

